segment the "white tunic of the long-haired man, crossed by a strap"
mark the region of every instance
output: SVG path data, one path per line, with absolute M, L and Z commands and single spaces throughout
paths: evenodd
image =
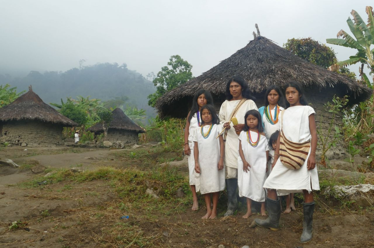
M 229 118 L 236 108 L 237 104 L 239 104 L 240 100 L 233 100 L 233 101 L 224 101 L 221 105 L 220 109 L 220 125 L 223 128 L 223 124 L 225 122 L 229 122 Z M 256 104 L 252 100 L 246 100 L 239 110 L 236 112 L 236 117 L 239 124 L 244 124 L 244 116 L 248 110 L 258 110 Z M 227 131 L 226 142 L 225 142 L 225 157 L 224 157 L 224 164 L 225 166 L 231 168 L 237 168 L 237 156 L 239 156 L 239 139 L 238 135 L 233 128 L 233 123 L 230 123 L 230 129 Z

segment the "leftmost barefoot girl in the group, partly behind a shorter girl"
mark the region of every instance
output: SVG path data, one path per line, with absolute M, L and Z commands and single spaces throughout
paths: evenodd
M 193 96 L 191 111 L 188 112 L 186 128 L 184 129 L 184 154 L 188 156 L 188 170 L 190 174 L 190 186 L 193 196 L 192 210 L 196 211 L 199 208 L 196 191 L 199 191 L 199 182 L 196 180 L 195 160 L 193 157 L 193 132 L 200 126 L 200 109 L 205 104 L 213 104 L 213 98 L 209 91 L 200 89 L 197 90 Z M 197 183 L 197 190 L 196 190 Z

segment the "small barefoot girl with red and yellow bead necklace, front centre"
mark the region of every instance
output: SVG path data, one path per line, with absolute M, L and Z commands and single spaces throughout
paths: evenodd
M 244 116 L 244 130 L 239 135 L 238 166 L 243 163 L 243 171 L 238 169 L 239 196 L 247 198 L 247 213 L 243 218 L 252 215 L 252 200 L 261 202 L 261 215 L 265 213 L 265 191 L 267 158 L 269 145 L 263 127 L 261 116 L 257 110 L 249 110 Z

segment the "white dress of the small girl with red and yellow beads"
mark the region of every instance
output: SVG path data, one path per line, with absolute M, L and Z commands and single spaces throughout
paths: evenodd
M 257 132 L 251 132 L 252 141 L 258 138 Z M 266 151 L 269 151 L 269 145 L 264 135 L 260 135 L 257 147 L 252 147 L 247 141 L 247 132 L 242 131 L 239 135 L 242 142 L 242 150 L 245 160 L 251 168 L 249 172 L 243 171 L 243 161 L 240 156 L 237 157 L 237 184 L 239 186 L 239 196 L 247 197 L 254 201 L 265 201 L 265 190 L 263 188 L 266 180 Z

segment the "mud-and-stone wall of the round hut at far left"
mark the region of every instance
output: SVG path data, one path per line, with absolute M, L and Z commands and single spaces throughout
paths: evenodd
M 62 144 L 62 126 L 46 122 L 2 123 L 1 142 L 28 147 L 55 147 Z

